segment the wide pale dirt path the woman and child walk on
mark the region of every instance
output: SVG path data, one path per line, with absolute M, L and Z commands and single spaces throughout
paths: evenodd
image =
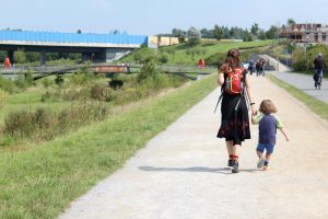
M 251 83 L 257 106 L 272 100 L 291 138 L 278 132 L 270 171 L 256 169 L 257 126 L 241 172 L 226 168 L 215 90 L 60 218 L 328 218 L 327 123 L 267 78 Z

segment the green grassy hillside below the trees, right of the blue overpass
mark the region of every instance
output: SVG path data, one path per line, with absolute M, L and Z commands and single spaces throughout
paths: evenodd
M 180 44 L 168 47 L 160 47 L 157 49 L 157 55 L 161 55 L 161 51 L 166 53 L 168 61 L 167 65 L 197 65 L 199 58 L 207 58 L 215 53 L 226 53 L 231 48 L 249 48 L 249 47 L 261 47 L 272 45 L 272 41 L 259 41 L 259 42 L 201 42 L 197 46 L 190 46 L 189 44 Z M 189 49 L 200 49 L 203 53 L 195 55 L 194 59 L 191 55 L 187 55 Z M 169 53 L 174 50 L 174 54 Z M 144 51 L 141 51 L 144 53 Z M 134 53 L 128 55 L 122 59 L 122 61 L 133 62 Z

